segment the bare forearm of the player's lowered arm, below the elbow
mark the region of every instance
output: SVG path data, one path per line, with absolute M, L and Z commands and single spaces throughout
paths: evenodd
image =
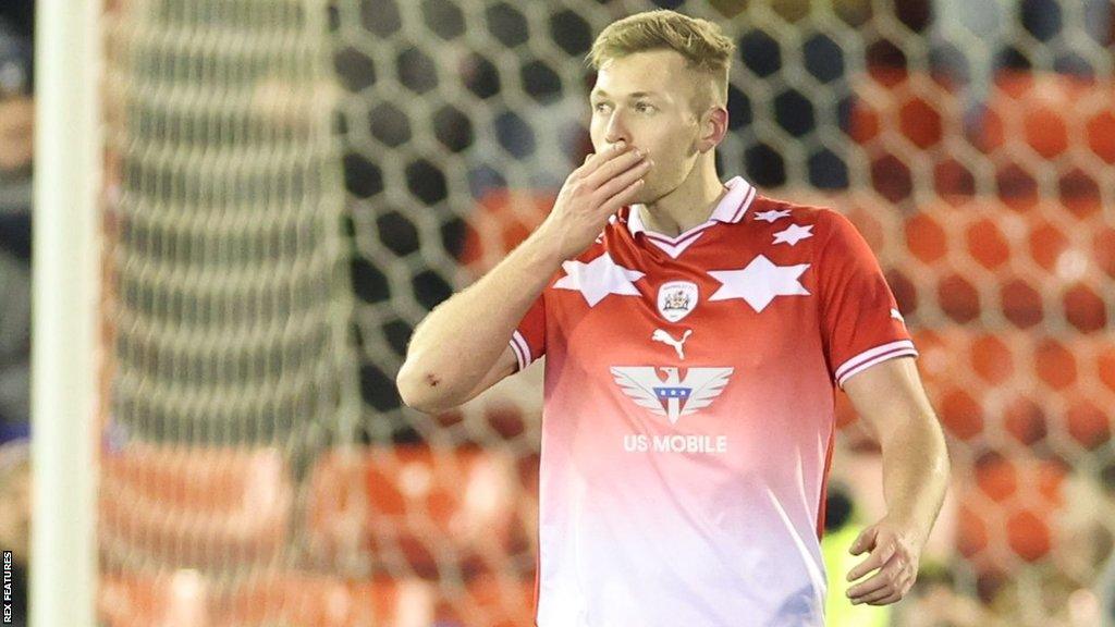
M 949 484 L 944 436 L 932 414 L 910 417 L 882 442 L 888 518 L 915 532 L 923 544 Z

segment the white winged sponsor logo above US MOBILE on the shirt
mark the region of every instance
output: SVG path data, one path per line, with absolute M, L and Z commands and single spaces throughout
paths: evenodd
M 666 380 L 658 376 L 661 370 Z M 686 377 L 675 367 L 613 366 L 612 377 L 634 404 L 666 416 L 670 424 L 712 404 L 724 392 L 735 368 L 689 368 Z

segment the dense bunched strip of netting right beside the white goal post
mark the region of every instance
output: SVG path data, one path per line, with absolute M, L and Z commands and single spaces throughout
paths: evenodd
M 100 616 L 246 624 L 359 415 L 326 12 L 128 0 L 104 28 Z

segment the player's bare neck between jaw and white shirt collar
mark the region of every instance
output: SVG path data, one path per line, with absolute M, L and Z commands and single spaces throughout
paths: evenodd
M 716 175 L 712 154 L 701 161 L 673 191 L 643 205 L 641 218 L 647 229 L 668 237 L 702 224 L 716 209 L 726 190 Z

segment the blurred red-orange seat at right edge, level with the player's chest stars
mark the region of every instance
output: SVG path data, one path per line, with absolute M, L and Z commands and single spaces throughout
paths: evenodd
M 904 229 L 910 254 L 898 255 L 895 269 L 954 322 L 991 308 L 1018 328 L 1047 322 L 1087 334 L 1107 325 L 1102 289 L 1115 276 L 1106 250 L 1115 224 L 1099 215 L 1082 223 L 1059 203 L 1019 212 L 976 196 L 922 206 Z

